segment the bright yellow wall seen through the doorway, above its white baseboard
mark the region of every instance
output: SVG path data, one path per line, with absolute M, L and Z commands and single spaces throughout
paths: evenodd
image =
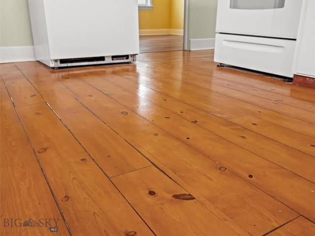
M 184 0 L 153 0 L 153 9 L 139 10 L 139 29 L 184 29 Z

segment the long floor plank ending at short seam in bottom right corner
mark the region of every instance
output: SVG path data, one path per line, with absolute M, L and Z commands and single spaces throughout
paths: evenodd
M 296 216 L 295 212 L 263 192 L 258 195 L 256 193 L 253 197 L 252 191 L 259 190 L 253 188 L 251 184 L 230 172 L 224 172 L 226 176 L 220 175 L 218 163 L 174 139 L 147 120 L 136 116 L 126 107 L 118 108 L 117 102 L 101 92 L 96 92 L 95 89 L 88 90 L 88 88 L 83 90 L 77 86 L 69 86 L 69 89 L 78 95 L 78 99 L 85 106 L 134 147 L 144 148 L 154 155 L 251 234 L 266 233 L 266 228 L 273 228 L 278 222 L 284 223 Z M 89 96 L 90 94 L 93 96 Z M 112 109 L 114 104 L 116 104 L 116 110 Z M 122 115 L 122 111 L 125 111 L 127 115 Z M 160 148 L 161 144 L 163 148 Z M 198 176 L 197 182 L 194 176 Z M 230 184 L 229 181 L 232 183 Z M 226 203 L 230 205 L 231 202 L 234 206 L 228 207 Z M 238 210 L 235 211 L 235 209 Z M 246 222 L 241 220 L 244 217 L 247 218 Z

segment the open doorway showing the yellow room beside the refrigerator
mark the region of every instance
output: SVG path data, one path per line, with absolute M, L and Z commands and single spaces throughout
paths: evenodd
M 154 0 L 139 10 L 140 53 L 182 51 L 187 34 L 188 0 Z

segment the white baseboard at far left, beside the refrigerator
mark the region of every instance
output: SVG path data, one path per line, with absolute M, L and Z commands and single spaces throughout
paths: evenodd
M 36 60 L 33 46 L 0 47 L 0 63 L 31 60 Z

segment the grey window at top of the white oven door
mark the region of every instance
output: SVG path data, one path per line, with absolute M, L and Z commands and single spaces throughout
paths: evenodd
M 230 0 L 230 8 L 258 10 L 284 7 L 285 0 Z

